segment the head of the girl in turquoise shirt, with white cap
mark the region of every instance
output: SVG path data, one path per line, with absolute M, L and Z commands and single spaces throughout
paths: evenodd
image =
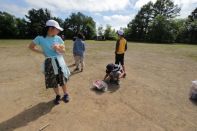
M 48 36 L 55 36 L 57 35 L 60 31 L 63 31 L 63 29 L 59 26 L 59 23 L 55 20 L 48 20 L 46 22 L 46 27 L 44 28 L 43 31 L 43 36 L 46 37 Z

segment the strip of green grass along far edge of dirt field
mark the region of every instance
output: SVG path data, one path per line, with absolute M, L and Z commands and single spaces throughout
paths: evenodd
M 20 47 L 28 46 L 32 40 L 0 40 L 0 47 Z M 114 50 L 115 41 L 94 41 L 88 40 L 86 43 L 87 46 L 91 49 L 90 52 L 99 52 L 100 50 Z M 66 40 L 65 45 L 68 51 L 72 51 L 73 41 Z M 99 46 L 101 45 L 101 46 Z M 170 55 L 173 57 L 186 57 L 192 60 L 197 61 L 197 45 L 187 45 L 187 44 L 150 44 L 150 43 L 136 43 L 128 42 L 128 52 L 137 51 L 137 52 L 150 52 L 160 55 Z

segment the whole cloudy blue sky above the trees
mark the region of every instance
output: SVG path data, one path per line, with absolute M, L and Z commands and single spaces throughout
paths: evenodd
M 115 29 L 126 27 L 138 10 L 149 1 L 156 0 L 0 0 L 0 11 L 16 17 L 25 17 L 28 10 L 48 8 L 53 16 L 67 18 L 72 12 L 82 12 L 93 17 L 97 26 L 106 24 Z M 173 0 L 182 10 L 181 18 L 187 17 L 197 7 L 197 0 Z

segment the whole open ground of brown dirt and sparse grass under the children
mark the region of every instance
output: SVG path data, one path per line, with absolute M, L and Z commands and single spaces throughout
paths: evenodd
M 30 41 L 0 41 L 0 131 L 197 131 L 197 105 L 188 100 L 197 79 L 197 47 L 128 43 L 127 77 L 105 93 L 90 90 L 114 62 L 115 42 L 87 41 L 84 72 L 68 82 L 71 101 L 53 105 Z M 11 44 L 10 44 L 11 43 Z M 70 43 L 70 42 L 69 42 Z M 65 60 L 73 64 L 66 42 Z M 71 71 L 73 68 L 71 68 Z

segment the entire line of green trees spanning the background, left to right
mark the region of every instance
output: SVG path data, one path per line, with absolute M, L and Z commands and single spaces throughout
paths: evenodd
M 143 41 L 155 43 L 192 43 L 197 44 L 197 8 L 185 18 L 178 18 L 181 8 L 172 0 L 157 0 L 141 7 L 127 28 L 125 37 L 129 41 Z M 42 34 L 42 28 L 48 19 L 55 19 L 65 30 L 61 35 L 72 39 L 78 32 L 82 32 L 86 39 L 95 39 L 97 35 L 106 40 L 117 39 L 116 30 L 110 25 L 101 25 L 96 29 L 96 22 L 92 17 L 81 12 L 71 13 L 62 20 L 51 15 L 48 9 L 31 9 L 25 18 L 0 11 L 0 39 L 18 38 L 29 39 Z

